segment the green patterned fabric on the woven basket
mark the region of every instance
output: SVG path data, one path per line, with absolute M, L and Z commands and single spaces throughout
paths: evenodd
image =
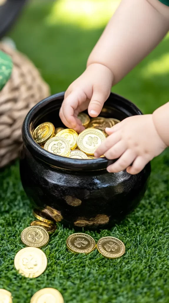
M 0 51 L 0 91 L 9 80 L 12 72 L 11 57 Z

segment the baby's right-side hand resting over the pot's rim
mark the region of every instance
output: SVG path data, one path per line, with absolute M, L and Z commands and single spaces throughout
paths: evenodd
M 154 157 L 167 147 L 156 131 L 152 115 L 137 115 L 124 119 L 112 128 L 106 128 L 109 137 L 97 148 L 95 157 L 105 155 L 117 159 L 108 172 L 138 174 Z M 129 166 L 132 164 L 132 166 Z

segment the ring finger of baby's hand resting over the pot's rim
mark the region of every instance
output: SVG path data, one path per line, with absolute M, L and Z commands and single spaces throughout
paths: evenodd
M 136 154 L 131 150 L 127 149 L 124 154 L 113 164 L 107 167 L 108 172 L 119 172 L 127 168 L 136 158 Z

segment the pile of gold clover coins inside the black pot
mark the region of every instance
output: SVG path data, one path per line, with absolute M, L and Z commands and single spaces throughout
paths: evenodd
M 97 117 L 90 120 L 84 112 L 78 115 L 86 128 L 79 135 L 74 129 L 58 127 L 51 122 L 38 125 L 33 131 L 33 139 L 45 150 L 62 157 L 94 159 L 97 147 L 108 136 L 106 127 L 112 127 L 120 121 L 115 118 Z

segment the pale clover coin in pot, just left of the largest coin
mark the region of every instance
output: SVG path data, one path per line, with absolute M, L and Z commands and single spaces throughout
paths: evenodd
M 70 143 L 63 137 L 53 137 L 45 143 L 44 149 L 54 155 L 67 157 L 70 154 Z

